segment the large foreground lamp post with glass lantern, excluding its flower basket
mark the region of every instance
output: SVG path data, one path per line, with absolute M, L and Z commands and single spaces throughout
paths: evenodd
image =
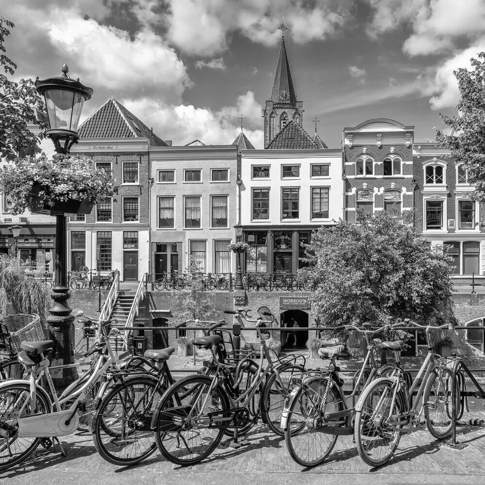
M 60 155 L 69 153 L 71 146 L 78 142 L 78 123 L 84 101 L 91 98 L 93 90 L 79 81 L 71 79 L 67 65 L 62 67 L 62 76 L 39 80 L 35 88 L 46 101 L 50 129 L 47 136 L 54 143 L 55 151 Z M 59 157 L 60 155 L 54 155 Z M 72 364 L 74 341 L 72 309 L 68 307 L 70 297 L 67 287 L 67 226 L 64 212 L 56 212 L 56 255 L 54 260 L 54 287 L 51 298 L 54 304 L 49 309 L 49 338 L 54 341 L 53 358 L 62 360 L 57 364 Z M 54 364 L 55 365 L 55 364 Z M 64 369 L 64 375 L 56 376 L 54 382 L 65 386 L 77 377 L 75 368 Z M 56 382 L 57 381 L 57 382 Z

